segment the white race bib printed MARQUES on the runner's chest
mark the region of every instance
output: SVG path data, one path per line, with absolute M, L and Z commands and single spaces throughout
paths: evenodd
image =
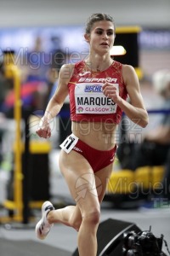
M 80 83 L 75 87 L 76 113 L 116 113 L 117 104 L 106 97 L 103 83 Z M 118 84 L 114 84 L 119 90 Z

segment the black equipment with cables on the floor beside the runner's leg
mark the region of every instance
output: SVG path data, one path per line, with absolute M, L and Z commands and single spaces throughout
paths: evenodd
M 166 256 L 161 251 L 163 241 L 151 230 L 142 231 L 136 224 L 108 218 L 99 224 L 97 256 Z M 168 247 L 167 252 L 169 253 Z M 78 256 L 78 249 L 72 256 Z

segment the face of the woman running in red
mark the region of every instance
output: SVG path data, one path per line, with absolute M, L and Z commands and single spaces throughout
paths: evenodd
M 86 38 L 87 39 L 87 38 Z M 115 27 L 111 21 L 101 20 L 94 23 L 87 41 L 94 51 L 110 52 L 115 40 Z

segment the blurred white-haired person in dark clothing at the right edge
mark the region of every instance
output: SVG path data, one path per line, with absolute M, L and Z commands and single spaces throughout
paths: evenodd
M 139 166 L 160 166 L 167 160 L 170 148 L 170 70 L 154 74 L 153 84 L 164 98 L 161 122 L 144 136 L 144 141 L 135 148 L 134 169 Z M 136 150 L 138 149 L 138 150 Z

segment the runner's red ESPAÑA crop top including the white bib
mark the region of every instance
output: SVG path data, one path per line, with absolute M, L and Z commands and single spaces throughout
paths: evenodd
M 108 81 L 119 90 L 119 95 L 126 100 L 127 90 L 122 78 L 122 64 L 113 61 L 102 72 L 91 72 L 85 61 L 75 64 L 74 73 L 68 84 L 71 121 L 106 122 L 119 124 L 122 109 L 106 97 L 102 86 Z

